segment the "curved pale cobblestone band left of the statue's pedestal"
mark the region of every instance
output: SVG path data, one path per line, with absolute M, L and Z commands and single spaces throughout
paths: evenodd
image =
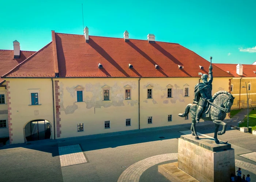
M 162 154 L 155 155 L 139 162 L 136 162 L 129 166 L 118 178 L 117 182 L 139 182 L 140 176 L 144 171 L 146 171 L 149 167 L 154 166 L 155 164 L 165 162 L 168 160 L 178 159 L 178 153 L 172 154 Z

